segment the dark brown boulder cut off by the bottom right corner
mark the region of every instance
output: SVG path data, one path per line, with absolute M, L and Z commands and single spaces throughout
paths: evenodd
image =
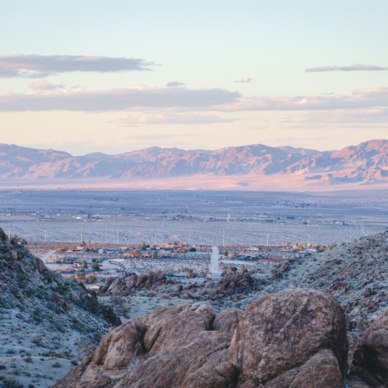
M 361 337 L 350 374 L 372 387 L 388 387 L 388 310 L 380 314 Z

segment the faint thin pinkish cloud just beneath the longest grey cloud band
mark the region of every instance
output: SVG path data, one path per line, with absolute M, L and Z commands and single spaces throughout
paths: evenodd
M 218 117 L 214 114 L 201 115 L 199 113 L 162 113 L 151 112 L 143 113 L 140 116 L 125 116 L 118 120 L 116 123 L 124 127 L 133 127 L 140 124 L 143 125 L 165 125 L 165 124 L 215 124 L 215 123 L 231 123 L 236 119 L 226 119 Z

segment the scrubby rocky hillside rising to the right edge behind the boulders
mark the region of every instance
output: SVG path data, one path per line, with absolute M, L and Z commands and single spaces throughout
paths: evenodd
M 314 288 L 336 297 L 351 331 L 363 331 L 388 308 L 388 231 L 344 243 L 305 259 L 280 263 L 262 293 Z

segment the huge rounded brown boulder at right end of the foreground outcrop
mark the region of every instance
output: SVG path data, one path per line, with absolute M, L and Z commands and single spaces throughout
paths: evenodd
M 277 388 L 291 387 L 299 373 L 304 381 L 303 375 L 314 369 L 309 365 L 316 365 L 311 357 L 317 353 L 322 378 L 309 387 L 342 387 L 348 351 L 345 316 L 337 300 L 322 292 L 286 290 L 266 295 L 242 313 L 230 350 L 241 371 L 238 387 L 249 387 L 248 382 L 253 387 L 273 387 L 271 380 L 282 380 L 294 370 L 291 380 L 276 383 Z

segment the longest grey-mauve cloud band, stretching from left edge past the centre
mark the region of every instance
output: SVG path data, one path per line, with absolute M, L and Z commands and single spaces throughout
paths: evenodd
M 171 107 L 202 110 L 235 102 L 240 96 L 238 92 L 224 89 L 147 88 L 145 85 L 92 91 L 69 88 L 26 94 L 7 92 L 0 93 L 0 112 L 109 112 Z

